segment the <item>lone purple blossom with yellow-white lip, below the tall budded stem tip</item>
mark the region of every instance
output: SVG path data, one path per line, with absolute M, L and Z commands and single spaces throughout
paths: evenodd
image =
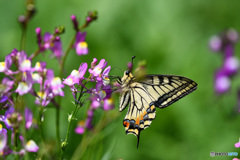
M 76 41 L 73 47 L 76 49 L 77 55 L 88 54 L 88 45 L 85 42 L 86 32 L 81 33 L 80 31 L 76 35 Z

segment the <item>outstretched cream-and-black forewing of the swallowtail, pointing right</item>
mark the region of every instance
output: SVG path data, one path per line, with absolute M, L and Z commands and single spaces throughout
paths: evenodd
M 164 108 L 194 91 L 196 82 L 181 76 L 148 75 L 141 83 L 154 98 L 154 105 Z

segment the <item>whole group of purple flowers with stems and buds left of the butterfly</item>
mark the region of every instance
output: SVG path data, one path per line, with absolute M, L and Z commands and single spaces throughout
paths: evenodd
M 22 26 L 23 33 L 26 33 L 28 22 L 33 17 L 36 8 L 34 1 L 26 4 L 27 12 L 25 15 L 19 16 L 19 22 Z M 78 70 L 73 70 L 71 74 L 64 79 L 62 83 L 63 68 L 67 56 L 71 49 L 75 50 L 77 55 L 86 55 L 89 53 L 88 44 L 86 42 L 86 32 L 82 32 L 84 28 L 97 19 L 97 12 L 89 12 L 85 23 L 79 26 L 79 22 L 75 15 L 71 16 L 71 20 L 75 29 L 75 35 L 70 41 L 66 52 L 63 51 L 60 35 L 64 33 L 64 27 L 56 27 L 53 33 L 42 33 L 40 27 L 36 28 L 37 50 L 30 56 L 24 51 L 25 36 L 22 34 L 21 49 L 13 49 L 4 61 L 0 62 L 0 157 L 5 158 L 9 154 L 14 154 L 16 159 L 22 156 L 28 157 L 28 152 L 38 152 L 39 147 L 33 140 L 29 138 L 28 130 L 35 128 L 38 130 L 39 136 L 45 144 L 42 132 L 43 112 L 46 106 L 52 102 L 56 106 L 56 137 L 60 144 L 59 131 L 59 101 L 55 101 L 56 96 L 64 96 L 64 84 L 70 87 L 75 99 L 75 110 L 69 115 L 69 125 L 64 140 L 65 145 L 59 145 L 62 152 L 63 148 L 68 144 L 68 134 L 71 122 L 75 119 L 77 111 L 80 107 L 85 106 L 85 101 L 89 100 L 89 108 L 87 118 L 80 121 L 76 128 L 76 133 L 82 134 L 86 129 L 92 129 L 94 111 L 102 108 L 107 111 L 114 108 L 111 99 L 111 86 L 109 84 L 109 72 L 111 67 L 107 66 L 107 62 L 102 59 L 99 63 L 96 58 L 93 59 L 91 67 L 88 68 L 87 63 L 82 63 Z M 55 77 L 54 71 L 47 68 L 46 62 L 35 62 L 34 58 L 45 51 L 50 51 L 52 56 L 57 58 L 60 64 L 59 77 Z M 98 64 L 97 64 L 98 63 Z M 86 73 L 89 72 L 89 76 Z M 35 98 L 35 104 L 39 109 L 39 117 L 35 121 L 32 110 L 25 105 L 24 98 L 26 94 Z M 36 124 L 37 122 L 37 124 Z M 35 130 L 33 131 L 35 133 Z M 37 141 L 36 141 L 37 142 Z M 48 155 L 44 148 L 41 148 L 39 159 L 44 154 Z M 63 159 L 64 154 L 59 154 L 59 158 Z

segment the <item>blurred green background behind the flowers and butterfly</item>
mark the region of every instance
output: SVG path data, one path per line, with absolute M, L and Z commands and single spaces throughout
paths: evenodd
M 12 51 L 20 48 L 21 28 L 17 22 L 25 12 L 23 0 L 0 0 L 0 61 Z M 27 54 L 37 50 L 35 28 L 53 32 L 55 26 L 64 25 L 66 32 L 61 36 L 66 50 L 74 30 L 70 20 L 72 14 L 83 23 L 88 11 L 97 10 L 99 18 L 86 29 L 89 46 L 87 56 L 77 56 L 72 50 L 66 63 L 65 77 L 82 62 L 91 63 L 94 57 L 104 58 L 112 67 L 126 69 L 132 56 L 134 62 L 147 62 L 149 74 L 182 75 L 198 83 L 198 89 L 170 107 L 157 109 L 156 119 L 151 127 L 141 133 L 140 146 L 137 138 L 126 135 L 122 125 L 126 111 L 118 113 L 116 108 L 109 114 L 118 118 L 102 132 L 100 138 L 87 146 L 83 159 L 232 159 L 233 157 L 210 157 L 210 151 L 238 152 L 234 147 L 240 137 L 240 117 L 236 111 L 237 88 L 240 76 L 233 77 L 232 89 L 225 95 L 217 96 L 213 90 L 215 69 L 222 65 L 222 56 L 213 54 L 208 48 L 209 38 L 224 29 L 240 29 L 239 0 L 195 0 L 195 1 L 137 1 L 137 0 L 58 0 L 36 1 L 37 13 L 30 21 L 27 32 Z M 239 57 L 239 44 L 236 56 Z M 47 61 L 47 67 L 59 68 L 57 60 L 49 59 L 50 52 L 40 55 L 37 60 Z M 111 75 L 123 75 L 115 68 Z M 67 130 L 67 115 L 74 106 L 68 87 L 61 110 L 61 138 Z M 34 110 L 34 99 L 27 105 Z M 79 111 L 81 112 L 81 110 Z M 98 117 L 103 111 L 96 112 Z M 83 119 L 85 113 L 79 113 Z M 72 126 L 75 128 L 77 121 Z M 88 133 L 86 133 L 88 134 Z M 44 136 L 55 141 L 55 109 L 48 107 L 45 112 Z M 31 135 L 34 139 L 34 135 Z M 82 136 L 71 132 L 66 159 L 70 159 L 81 142 Z M 77 154 L 82 154 L 78 150 Z M 240 156 L 238 156 L 240 157 Z

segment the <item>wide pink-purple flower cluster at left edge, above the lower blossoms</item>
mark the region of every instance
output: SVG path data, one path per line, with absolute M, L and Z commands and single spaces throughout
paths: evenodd
M 0 62 L 0 72 L 6 77 L 1 83 L 0 95 L 11 99 L 12 93 L 19 95 L 27 93 L 36 97 L 36 104 L 46 106 L 55 96 L 63 96 L 64 85 L 59 77 L 54 77 L 52 70 L 46 68 L 45 62 L 37 62 L 32 66 L 32 61 L 24 51 L 14 49 L 5 58 L 5 62 Z M 12 68 L 16 68 L 15 71 Z M 16 89 L 14 84 L 17 85 Z M 35 90 L 33 85 L 39 86 Z

